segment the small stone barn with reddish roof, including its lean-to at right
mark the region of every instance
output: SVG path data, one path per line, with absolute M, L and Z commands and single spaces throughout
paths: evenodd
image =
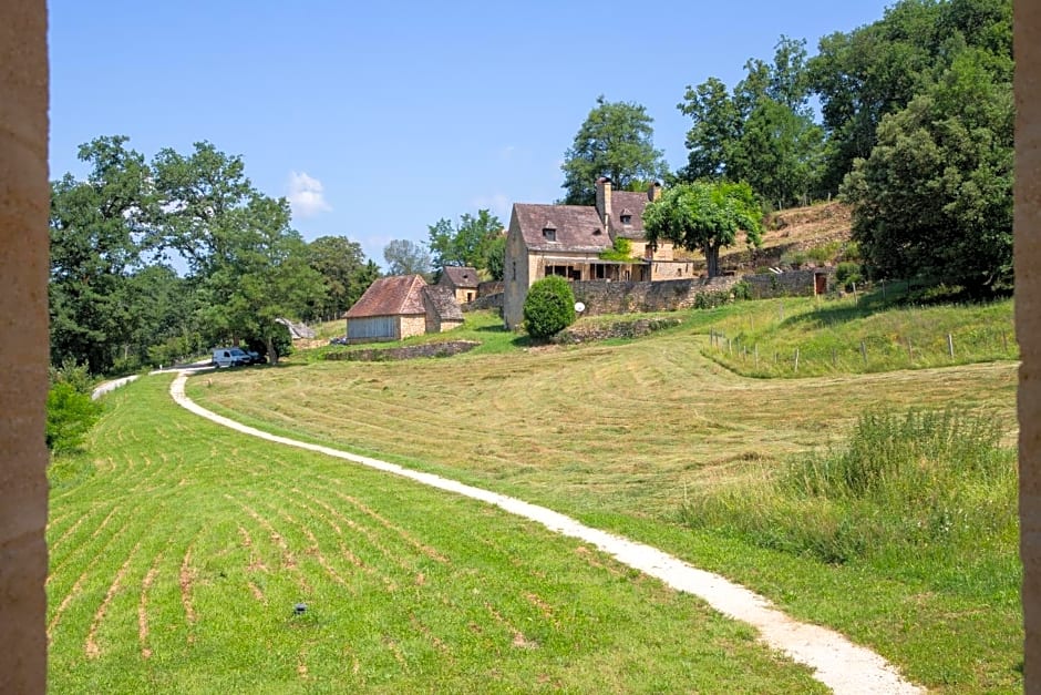
M 402 340 L 463 325 L 455 294 L 419 275 L 382 277 L 346 314 L 349 343 Z

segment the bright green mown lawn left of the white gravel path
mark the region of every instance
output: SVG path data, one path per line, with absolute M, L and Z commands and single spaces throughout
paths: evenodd
M 581 543 L 237 435 L 168 385 L 107 396 L 51 469 L 55 693 L 823 689 Z

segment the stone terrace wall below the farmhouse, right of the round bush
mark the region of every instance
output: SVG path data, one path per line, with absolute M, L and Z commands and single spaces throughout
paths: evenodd
M 700 294 L 726 292 L 739 280 L 738 277 L 688 278 L 658 283 L 584 280 L 571 283 L 571 292 L 575 293 L 575 301 L 586 305 L 584 316 L 673 311 L 694 306 Z

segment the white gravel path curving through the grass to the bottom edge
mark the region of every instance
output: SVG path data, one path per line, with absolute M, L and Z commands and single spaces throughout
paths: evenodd
M 677 591 L 699 596 L 720 613 L 755 627 L 760 638 L 794 661 L 810 666 L 814 677 L 835 693 L 921 693 L 921 688 L 905 681 L 896 667 L 873 651 L 853 644 L 842 634 L 798 622 L 789 617 L 773 604 L 733 582 L 711 572 L 699 570 L 656 548 L 592 529 L 545 507 L 463 484 L 447 478 L 413 471 L 379 459 L 357 456 L 329 447 L 311 444 L 240 425 L 210 412 L 192 401 L 184 391 L 187 374 L 174 379 L 169 392 L 174 400 L 192 412 L 239 432 L 259 437 L 288 447 L 316 451 L 368 466 L 433 488 L 462 494 L 494 504 L 509 513 L 536 521 L 550 531 L 576 538 L 612 555 L 619 562 L 661 580 Z

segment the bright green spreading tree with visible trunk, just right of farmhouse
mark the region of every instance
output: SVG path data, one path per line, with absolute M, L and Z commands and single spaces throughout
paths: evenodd
M 757 246 L 760 207 L 746 183 L 694 182 L 668 188 L 643 211 L 643 229 L 651 244 L 668 239 L 689 251 L 700 251 L 709 277 L 719 275 L 720 249 L 732 246 L 738 233 Z

